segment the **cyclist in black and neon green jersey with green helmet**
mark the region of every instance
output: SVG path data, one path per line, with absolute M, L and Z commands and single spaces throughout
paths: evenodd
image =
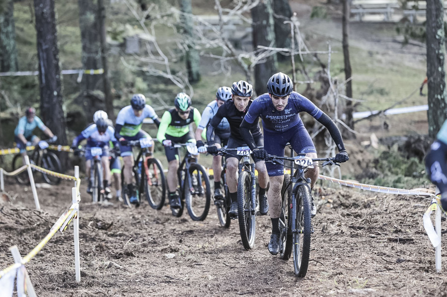
M 179 167 L 178 149 L 172 143 L 196 143 L 194 133 L 190 128 L 193 122 L 199 126 L 200 112 L 191 106 L 191 98 L 185 93 L 178 93 L 174 100 L 175 108 L 164 112 L 158 127 L 157 140 L 163 143 L 166 158 L 169 163 L 167 182 L 169 188 L 169 204 L 172 208 L 180 207 L 177 194 Z

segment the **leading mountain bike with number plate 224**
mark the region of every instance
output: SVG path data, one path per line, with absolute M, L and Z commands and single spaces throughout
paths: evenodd
M 311 226 L 310 205 L 310 178 L 305 178 L 307 168 L 313 166 L 324 167 L 337 165 L 334 158 L 309 158 L 305 154 L 292 157 L 278 157 L 267 155 L 266 162 L 283 164 L 281 160 L 291 161 L 292 166 L 284 165 L 295 172 L 292 176 L 286 175 L 281 189 L 282 209 L 280 215 L 280 252 L 281 258 L 288 260 L 293 252 L 295 275 L 304 277 L 307 273 L 310 255 L 310 237 L 313 233 Z M 325 161 L 319 165 L 318 161 Z

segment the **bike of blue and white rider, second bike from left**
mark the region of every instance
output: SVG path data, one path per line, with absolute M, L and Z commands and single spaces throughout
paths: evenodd
M 102 202 L 105 200 L 104 191 L 104 176 L 101 163 L 101 155 L 104 149 L 103 147 L 90 147 L 90 148 L 77 148 L 75 152 L 78 152 L 79 157 L 85 156 L 85 151 L 89 149 L 92 159 L 90 160 L 90 184 L 91 184 L 91 200 L 92 202 Z M 110 149 L 108 149 L 111 151 Z

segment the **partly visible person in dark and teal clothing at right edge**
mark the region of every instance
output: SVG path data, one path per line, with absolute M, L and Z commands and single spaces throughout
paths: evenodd
M 425 167 L 430 180 L 441 193 L 443 212 L 447 211 L 447 120 L 436 135 L 425 158 Z M 436 193 L 438 194 L 438 193 Z

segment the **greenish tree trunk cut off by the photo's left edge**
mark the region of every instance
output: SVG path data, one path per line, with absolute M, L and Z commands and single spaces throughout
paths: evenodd
M 0 1 L 0 72 L 18 71 L 13 13 L 13 0 Z

